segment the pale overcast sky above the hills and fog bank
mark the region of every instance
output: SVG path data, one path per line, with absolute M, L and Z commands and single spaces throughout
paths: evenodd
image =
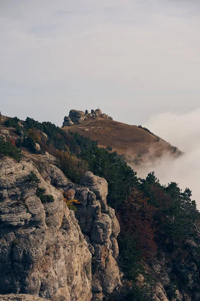
M 198 0 L 0 0 L 0 111 L 143 124 L 200 100 Z

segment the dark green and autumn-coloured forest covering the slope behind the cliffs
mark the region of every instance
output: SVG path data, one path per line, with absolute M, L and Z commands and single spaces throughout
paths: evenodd
M 96 141 L 78 133 L 66 133 L 50 122 L 40 123 L 27 117 L 20 125 L 17 117 L 10 119 L 5 125 L 15 128 L 19 148 L 1 139 L 1 155 L 15 156 L 19 161 L 21 149 L 49 152 L 56 156 L 69 180 L 79 183 L 82 175 L 91 171 L 107 181 L 107 202 L 115 209 L 121 228 L 119 264 L 129 281 L 126 299 L 151 300 L 151 288 L 157 281 L 163 283 L 169 300 L 177 291 L 196 298 L 200 287 L 200 216 L 188 188 L 181 191 L 173 182 L 161 185 L 153 172 L 146 179 L 139 179 L 116 152 L 99 148 Z M 37 193 L 43 196 L 44 192 Z M 162 261 L 162 273 L 167 270 L 168 275 L 165 281 L 154 272 L 154 265 L 161 265 Z M 142 285 L 138 285 L 140 274 L 144 276 Z

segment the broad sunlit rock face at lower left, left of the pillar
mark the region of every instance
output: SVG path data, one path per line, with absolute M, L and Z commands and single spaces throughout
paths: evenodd
M 37 197 L 37 185 L 27 181 L 31 171 L 52 202 Z M 0 160 L 0 293 L 91 299 L 91 253 L 59 191 L 69 186 L 51 156 Z

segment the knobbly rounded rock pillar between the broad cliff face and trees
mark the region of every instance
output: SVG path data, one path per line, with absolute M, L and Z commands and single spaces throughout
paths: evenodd
M 102 301 L 103 296 L 121 285 L 116 237 L 120 231 L 114 210 L 107 206 L 107 182 L 87 172 L 81 183 L 74 186 L 74 197 L 81 201 L 75 216 L 86 237 L 92 256 L 92 300 Z M 103 200 L 103 201 L 102 201 Z M 103 213 L 101 213 L 101 204 Z

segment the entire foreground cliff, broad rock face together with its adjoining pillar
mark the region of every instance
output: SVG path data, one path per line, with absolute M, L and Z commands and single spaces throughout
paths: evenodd
M 81 202 L 75 215 L 63 201 L 68 190 Z M 87 172 L 73 185 L 48 154 L 26 154 L 20 163 L 3 157 L 0 293 L 100 301 L 117 289 L 119 225 L 106 195 L 104 179 Z

